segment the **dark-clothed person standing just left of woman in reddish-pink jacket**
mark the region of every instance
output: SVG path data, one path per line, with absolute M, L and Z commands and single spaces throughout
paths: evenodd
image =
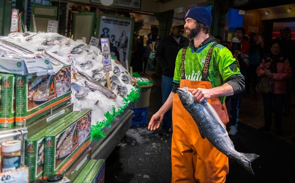
M 256 84 L 257 84 L 257 74 L 256 68 L 260 64 L 261 55 L 262 55 L 262 47 L 261 47 L 261 39 L 259 40 L 255 33 L 249 34 L 250 40 L 250 51 L 249 51 L 249 69 L 247 72 L 247 81 L 246 81 L 246 91 L 250 93 L 250 89 L 252 86 L 253 98 L 257 98 L 256 96 Z

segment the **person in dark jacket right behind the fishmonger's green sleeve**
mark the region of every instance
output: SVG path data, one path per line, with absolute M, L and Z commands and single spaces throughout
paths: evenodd
M 249 66 L 249 49 L 250 45 L 248 41 L 244 39 L 245 37 L 245 29 L 238 27 L 235 30 L 235 38 L 241 43 L 241 47 L 237 50 L 233 50 L 236 48 L 232 48 L 233 42 L 229 44 L 229 50 L 232 51 L 232 54 L 236 61 L 238 62 L 239 69 L 243 76 L 246 76 L 247 69 Z M 234 39 L 233 39 L 234 40 Z M 247 77 L 245 77 L 245 82 L 247 82 Z M 240 103 L 242 100 L 243 93 L 239 93 L 233 96 L 230 96 L 226 99 L 227 107 L 231 110 L 229 111 L 230 115 L 230 131 L 228 132 L 229 135 L 236 135 L 237 133 L 237 125 L 239 120 L 239 110 L 240 110 Z M 230 105 L 230 107 L 228 106 Z

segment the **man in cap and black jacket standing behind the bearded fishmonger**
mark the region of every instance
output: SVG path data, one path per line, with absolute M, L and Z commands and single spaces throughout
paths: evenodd
M 178 51 L 189 45 L 189 40 L 182 36 L 184 23 L 175 21 L 172 24 L 172 33 L 163 38 L 156 49 L 156 60 L 162 67 L 162 103 L 164 103 L 172 90 L 172 81 L 175 69 L 175 60 Z M 160 135 L 166 135 L 172 124 L 172 110 L 164 115 Z

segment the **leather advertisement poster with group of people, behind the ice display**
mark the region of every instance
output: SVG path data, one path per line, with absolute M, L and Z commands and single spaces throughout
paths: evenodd
M 125 17 L 99 14 L 97 36 L 108 38 L 111 56 L 115 57 L 125 68 L 126 59 L 131 58 L 134 20 Z M 99 45 L 100 47 L 100 45 Z

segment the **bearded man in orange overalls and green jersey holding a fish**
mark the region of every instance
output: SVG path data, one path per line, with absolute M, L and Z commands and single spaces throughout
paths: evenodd
M 173 106 L 172 182 L 224 183 L 229 170 L 228 157 L 225 155 L 227 153 L 220 152 L 220 148 L 217 147 L 218 150 L 215 144 L 209 141 L 212 138 L 208 138 L 208 133 L 205 136 L 201 133 L 202 129 L 196 124 L 195 118 L 192 118 L 194 114 L 187 111 L 181 103 L 183 98 L 181 101 L 175 93 L 181 94 L 178 92 L 180 90 L 177 90 L 179 87 L 188 88 L 194 95 L 194 102 L 211 103 L 220 118 L 218 120 L 225 125 L 229 121 L 224 103 L 225 96 L 243 91 L 244 77 L 232 53 L 226 47 L 217 44 L 216 39 L 209 35 L 212 16 L 206 8 L 190 9 L 185 21 L 186 34 L 191 42 L 188 47 L 179 50 L 172 92 L 153 115 L 148 128 L 156 130 L 164 114 Z M 208 114 L 210 118 L 213 113 L 211 111 Z M 225 129 L 224 126 L 218 130 L 222 129 Z M 223 131 L 224 136 L 228 136 L 226 130 Z M 215 129 L 212 129 L 213 133 Z M 222 142 L 231 142 L 229 138 L 225 140 Z M 251 155 L 253 159 L 257 156 Z M 250 163 L 248 162 L 250 168 L 253 159 L 250 158 Z M 251 170 L 249 169 L 250 172 Z

